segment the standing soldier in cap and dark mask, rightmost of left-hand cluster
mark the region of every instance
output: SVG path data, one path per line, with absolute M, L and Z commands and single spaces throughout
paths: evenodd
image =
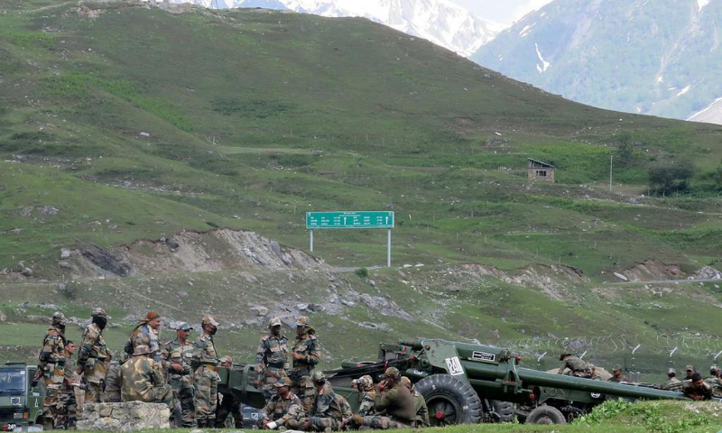
M 196 408 L 196 422 L 199 428 L 212 428 L 216 421 L 216 403 L 218 401 L 218 352 L 213 336 L 218 330 L 218 322 L 206 316 L 201 321 L 202 334 L 196 339 L 190 368 L 194 369 L 193 383 L 195 394 L 193 405 Z

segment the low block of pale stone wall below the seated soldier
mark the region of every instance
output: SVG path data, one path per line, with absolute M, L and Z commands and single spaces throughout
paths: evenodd
M 88 403 L 83 406 L 79 430 L 134 431 L 143 428 L 171 428 L 171 410 L 165 404 L 126 401 Z

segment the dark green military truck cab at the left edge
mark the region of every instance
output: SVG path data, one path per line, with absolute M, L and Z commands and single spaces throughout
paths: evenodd
M 33 381 L 37 371 L 24 363 L 0 366 L 0 430 L 42 430 L 45 382 Z

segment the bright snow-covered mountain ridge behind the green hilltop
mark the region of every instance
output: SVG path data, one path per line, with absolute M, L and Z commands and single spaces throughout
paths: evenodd
M 188 0 L 171 0 L 185 3 Z M 192 0 L 214 8 L 264 7 L 328 17 L 363 17 L 468 56 L 503 26 L 443 0 Z

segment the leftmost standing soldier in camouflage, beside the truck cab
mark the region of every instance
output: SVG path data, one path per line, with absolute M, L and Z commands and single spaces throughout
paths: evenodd
M 52 315 L 51 327 L 42 339 L 38 356 L 38 373 L 35 380 L 45 382 L 45 401 L 42 403 L 42 419 L 46 429 L 54 426 L 58 409 L 58 392 L 65 378 L 65 316 L 57 311 Z

